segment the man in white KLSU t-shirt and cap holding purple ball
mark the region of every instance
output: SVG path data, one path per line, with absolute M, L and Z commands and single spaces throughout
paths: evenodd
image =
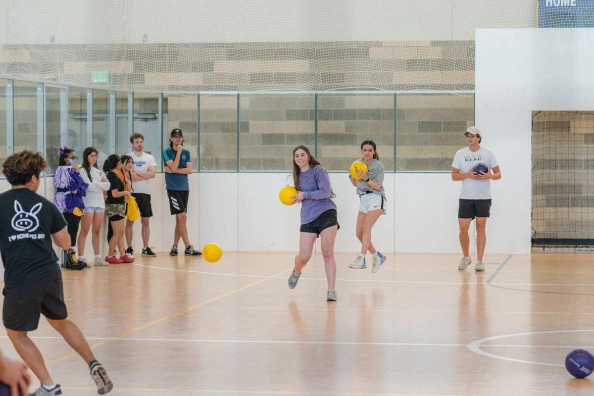
M 481 131 L 476 126 L 470 126 L 465 132 L 468 147 L 458 150 L 451 164 L 451 179 L 454 182 L 462 180 L 460 204 L 458 207 L 458 224 L 460 226 L 460 245 L 463 258 L 458 265 L 459 270 L 466 270 L 472 261 L 468 253 L 470 239 L 468 229 L 470 221 L 476 218 L 476 267 L 475 271 L 485 271 L 482 262 L 486 245 L 486 219 L 491 208 L 491 180 L 501 179 L 501 171 L 495 154 L 486 147 L 481 147 Z M 475 167 L 479 164 L 487 167 L 482 172 Z

